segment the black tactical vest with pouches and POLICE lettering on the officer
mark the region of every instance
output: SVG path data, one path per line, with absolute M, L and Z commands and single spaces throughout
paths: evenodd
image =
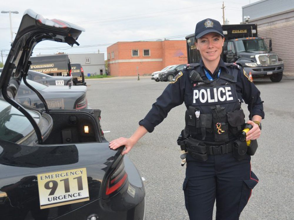
M 191 137 L 219 144 L 240 136 L 245 115 L 235 86 L 238 69 L 231 70 L 223 70 L 213 81 L 191 80 L 193 99 L 185 115 L 185 131 Z

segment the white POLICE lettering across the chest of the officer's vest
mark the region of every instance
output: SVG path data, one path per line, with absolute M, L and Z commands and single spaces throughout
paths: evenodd
M 214 87 L 195 89 L 193 92 L 193 103 L 219 103 L 224 101 L 233 101 L 235 92 L 232 91 L 232 87 Z

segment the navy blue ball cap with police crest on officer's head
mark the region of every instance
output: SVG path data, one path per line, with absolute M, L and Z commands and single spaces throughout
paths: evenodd
M 221 24 L 218 21 L 211 18 L 204 19 L 196 24 L 195 38 L 201 38 L 203 35 L 211 32 L 218 33 L 224 37 L 223 29 L 221 28 Z

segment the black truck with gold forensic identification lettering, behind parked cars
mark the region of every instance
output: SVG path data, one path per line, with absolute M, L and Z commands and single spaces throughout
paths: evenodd
M 71 76 L 71 65 L 67 54 L 31 57 L 30 70 L 50 76 Z

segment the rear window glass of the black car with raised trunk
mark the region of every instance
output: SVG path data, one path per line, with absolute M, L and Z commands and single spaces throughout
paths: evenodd
M 40 115 L 29 111 L 35 121 L 39 123 Z M 0 99 L 0 139 L 17 142 L 34 131 L 29 120 L 16 108 Z

